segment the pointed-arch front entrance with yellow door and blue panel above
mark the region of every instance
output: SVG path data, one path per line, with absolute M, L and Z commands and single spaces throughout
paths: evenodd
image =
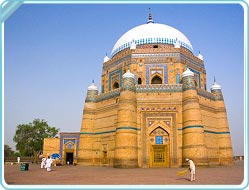
M 150 133 L 150 167 L 169 167 L 169 134 L 160 126 Z

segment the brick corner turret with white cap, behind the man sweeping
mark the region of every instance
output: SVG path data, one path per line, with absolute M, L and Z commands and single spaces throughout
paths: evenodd
M 185 159 L 191 158 L 196 165 L 206 166 L 208 165 L 207 148 L 194 73 L 187 68 L 182 73 L 182 78 L 182 163 L 186 165 Z

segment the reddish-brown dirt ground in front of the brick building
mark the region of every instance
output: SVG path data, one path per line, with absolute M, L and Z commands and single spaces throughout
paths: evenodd
M 38 164 L 30 164 L 28 171 L 21 171 L 20 165 L 5 164 L 4 188 L 35 185 L 64 185 L 63 188 L 84 188 L 85 185 L 240 185 L 244 180 L 244 162 L 236 161 L 234 166 L 196 168 L 196 181 L 189 181 L 189 172 L 177 176 L 184 168 L 136 168 L 117 169 L 111 167 L 56 166 L 51 172 L 41 169 Z M 6 184 L 5 184 L 6 183 Z M 70 186 L 65 186 L 70 185 Z M 91 186 L 90 186 L 91 187 Z M 94 186 L 93 186 L 94 187 Z M 104 187 L 104 186 L 103 186 Z M 129 186 L 128 186 L 129 187 Z M 132 186 L 134 187 L 134 186 Z M 138 186 L 140 187 L 140 186 Z M 165 186 L 167 188 L 168 186 Z M 186 187 L 186 186 L 185 186 Z

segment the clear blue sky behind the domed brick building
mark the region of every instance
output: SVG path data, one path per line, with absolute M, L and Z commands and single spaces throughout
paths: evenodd
M 4 22 L 4 144 L 44 119 L 79 132 L 87 87 L 100 91 L 103 58 L 128 30 L 156 23 L 204 56 L 207 87 L 222 86 L 234 155 L 244 155 L 244 10 L 238 4 L 23 4 Z

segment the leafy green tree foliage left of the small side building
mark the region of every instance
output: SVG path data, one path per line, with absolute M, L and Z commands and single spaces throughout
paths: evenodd
M 42 152 L 43 139 L 57 137 L 58 132 L 58 128 L 50 127 L 46 121 L 34 119 L 32 123 L 18 125 L 13 140 L 21 156 L 34 156 Z

